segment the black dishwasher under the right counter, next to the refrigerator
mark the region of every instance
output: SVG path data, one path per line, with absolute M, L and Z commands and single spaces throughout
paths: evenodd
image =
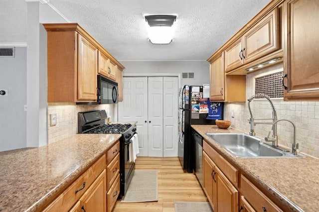
M 193 144 L 195 145 L 195 154 L 194 154 L 194 173 L 203 187 L 203 138 L 195 131 L 191 132 L 193 138 Z

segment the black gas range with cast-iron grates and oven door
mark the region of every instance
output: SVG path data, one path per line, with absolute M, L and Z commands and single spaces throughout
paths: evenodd
M 122 134 L 120 138 L 120 191 L 119 198 L 125 196 L 135 171 L 135 162 L 130 160 L 130 143 L 136 131 L 133 123 L 106 124 L 105 110 L 78 113 L 78 133 Z

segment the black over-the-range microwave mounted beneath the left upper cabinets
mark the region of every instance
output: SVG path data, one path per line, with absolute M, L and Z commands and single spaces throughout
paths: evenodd
M 77 105 L 99 105 L 118 103 L 118 83 L 98 75 L 97 102 L 77 103 Z

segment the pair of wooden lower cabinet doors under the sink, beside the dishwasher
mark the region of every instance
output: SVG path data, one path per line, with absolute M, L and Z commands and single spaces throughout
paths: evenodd
M 214 212 L 237 212 L 238 191 L 203 152 L 204 192 Z

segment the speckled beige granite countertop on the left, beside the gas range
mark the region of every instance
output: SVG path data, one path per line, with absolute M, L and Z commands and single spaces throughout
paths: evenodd
M 47 146 L 0 153 L 0 212 L 39 210 L 120 137 L 76 134 Z

